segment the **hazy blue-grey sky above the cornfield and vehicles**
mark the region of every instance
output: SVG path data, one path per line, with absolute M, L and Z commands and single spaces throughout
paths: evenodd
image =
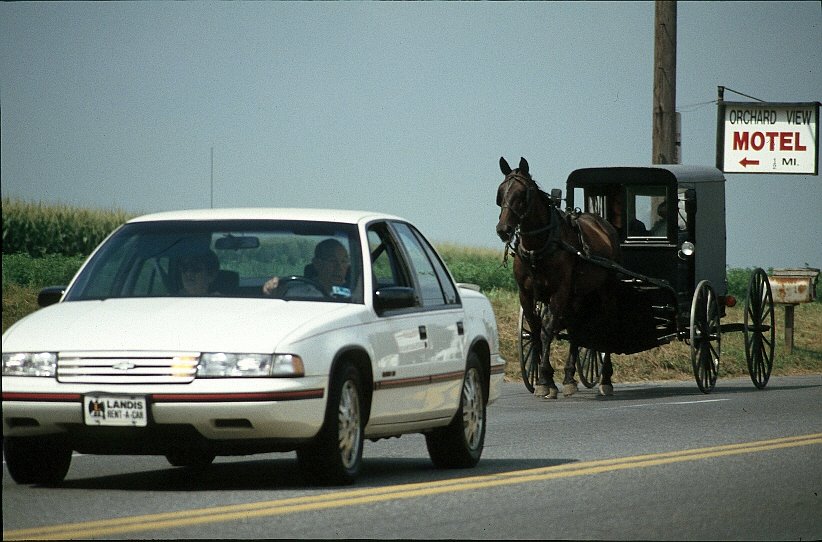
M 822 100 L 818 1 L 679 2 L 677 31 L 685 164 L 715 164 L 718 85 Z M 209 207 L 213 148 L 215 207 L 385 211 L 502 255 L 500 156 L 546 190 L 651 163 L 653 38 L 653 2 L 2 3 L 2 195 Z M 822 267 L 820 176 L 727 179 L 730 266 Z

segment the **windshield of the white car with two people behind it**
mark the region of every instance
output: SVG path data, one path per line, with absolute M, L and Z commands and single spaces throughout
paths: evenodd
M 126 224 L 65 300 L 181 296 L 362 303 L 357 228 L 277 220 Z

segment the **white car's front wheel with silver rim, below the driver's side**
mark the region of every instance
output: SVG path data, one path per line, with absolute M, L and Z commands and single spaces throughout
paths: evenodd
M 328 391 L 325 423 L 314 441 L 297 450 L 308 479 L 321 485 L 353 483 L 362 468 L 363 400 L 360 373 L 346 363 L 335 371 Z

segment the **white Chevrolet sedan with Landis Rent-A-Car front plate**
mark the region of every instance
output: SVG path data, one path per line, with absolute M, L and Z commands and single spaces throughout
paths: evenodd
M 344 484 L 363 439 L 406 433 L 471 467 L 503 379 L 488 299 L 378 213 L 138 217 L 39 303 L 2 345 L 3 448 L 24 484 L 60 483 L 73 450 L 187 467 L 296 450 L 310 480 Z

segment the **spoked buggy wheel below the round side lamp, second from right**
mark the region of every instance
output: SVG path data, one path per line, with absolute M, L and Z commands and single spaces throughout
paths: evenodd
M 716 293 L 711 284 L 703 280 L 697 285 L 691 303 L 691 366 L 702 393 L 710 393 L 716 385 L 721 341 Z

